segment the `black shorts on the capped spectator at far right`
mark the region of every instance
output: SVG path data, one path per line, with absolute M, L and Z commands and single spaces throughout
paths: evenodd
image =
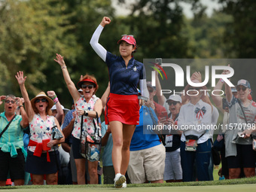
M 236 144 L 237 156 L 227 157 L 228 169 L 255 167 L 255 151 L 252 145 Z

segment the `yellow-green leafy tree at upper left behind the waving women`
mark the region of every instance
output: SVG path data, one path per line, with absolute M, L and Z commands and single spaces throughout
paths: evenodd
M 57 0 L 1 2 L 0 64 L 8 70 L 8 90 L 20 95 L 14 75 L 22 70 L 28 76 L 26 86 L 33 96 L 57 84 L 53 56 L 62 50 L 69 56 L 77 54 L 75 35 L 68 14 L 62 14 Z M 6 93 L 1 93 L 6 94 Z

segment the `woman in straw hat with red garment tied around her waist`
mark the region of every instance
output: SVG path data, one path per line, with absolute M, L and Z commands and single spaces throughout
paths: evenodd
M 40 92 L 29 101 L 29 94 L 25 87 L 26 77 L 23 77 L 23 72 L 17 72 L 15 77 L 25 100 L 31 134 L 26 172 L 32 173 L 33 184 L 44 184 L 44 175 L 46 175 L 47 184 L 57 184 L 59 151 L 55 151 L 54 146 L 64 142 L 65 139 L 64 137 L 53 139 L 54 126 L 59 133 L 62 133 L 58 120 L 51 116 L 50 108 L 53 106 L 53 100 L 44 92 Z

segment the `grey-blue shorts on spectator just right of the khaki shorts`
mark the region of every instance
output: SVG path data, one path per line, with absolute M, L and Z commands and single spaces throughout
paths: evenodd
M 166 166 L 164 168 L 163 180 L 181 180 L 181 149 L 178 148 L 175 151 L 166 152 Z

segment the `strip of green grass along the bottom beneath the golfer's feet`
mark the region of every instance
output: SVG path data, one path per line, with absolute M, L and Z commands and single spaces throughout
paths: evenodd
M 240 178 L 222 181 L 197 181 L 165 184 L 128 184 L 125 189 L 116 189 L 112 184 L 89 184 L 89 185 L 26 185 L 0 187 L 0 192 L 108 192 L 108 191 L 133 191 L 133 192 L 240 192 L 255 191 L 256 177 Z

